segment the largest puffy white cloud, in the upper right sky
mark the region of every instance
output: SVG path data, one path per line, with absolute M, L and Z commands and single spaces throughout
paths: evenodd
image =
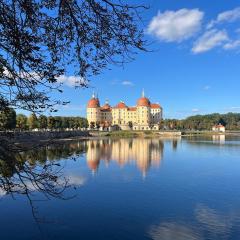
M 167 42 L 181 42 L 201 28 L 204 13 L 198 9 L 159 12 L 151 20 L 147 32 Z

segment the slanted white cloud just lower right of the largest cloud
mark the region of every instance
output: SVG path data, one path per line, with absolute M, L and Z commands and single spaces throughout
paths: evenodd
M 228 34 L 225 30 L 212 29 L 205 32 L 194 44 L 193 53 L 206 52 L 217 46 L 221 46 L 224 42 L 229 41 Z

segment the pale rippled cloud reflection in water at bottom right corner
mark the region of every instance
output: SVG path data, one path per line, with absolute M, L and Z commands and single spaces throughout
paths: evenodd
M 194 209 L 195 221 L 191 223 L 162 222 L 150 227 L 149 236 L 153 240 L 203 240 L 230 239 L 231 229 L 238 226 L 239 213 L 219 213 L 205 205 Z

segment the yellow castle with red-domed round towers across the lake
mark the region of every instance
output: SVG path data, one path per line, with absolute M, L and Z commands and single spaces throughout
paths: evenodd
M 162 107 L 158 103 L 151 103 L 144 91 L 134 107 L 127 106 L 123 101 L 114 107 L 108 101 L 101 106 L 95 94 L 87 104 L 87 120 L 91 129 L 159 130 L 162 113 Z

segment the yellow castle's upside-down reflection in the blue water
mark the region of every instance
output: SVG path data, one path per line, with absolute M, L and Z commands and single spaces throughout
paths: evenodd
M 151 166 L 160 166 L 164 149 L 159 139 L 90 140 L 86 145 L 86 161 L 93 172 L 101 162 L 113 161 L 119 166 L 136 164 L 143 175 Z

